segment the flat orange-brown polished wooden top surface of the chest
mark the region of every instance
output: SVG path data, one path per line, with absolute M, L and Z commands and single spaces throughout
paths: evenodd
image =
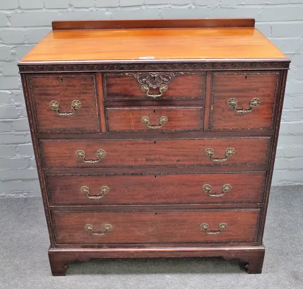
M 22 62 L 102 62 L 146 56 L 172 61 L 288 60 L 258 29 L 232 27 L 54 30 Z

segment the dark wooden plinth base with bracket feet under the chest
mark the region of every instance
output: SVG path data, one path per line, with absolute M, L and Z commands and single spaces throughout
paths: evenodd
M 176 248 L 80 248 L 49 249 L 48 257 L 54 276 L 65 276 L 68 264 L 93 258 L 140 258 L 140 257 L 224 257 L 244 261 L 248 274 L 262 272 L 264 246 L 215 246 Z M 222 260 L 224 262 L 224 260 Z M 146 268 L 148 270 L 148 268 Z M 201 272 L 203 273 L 203 272 Z

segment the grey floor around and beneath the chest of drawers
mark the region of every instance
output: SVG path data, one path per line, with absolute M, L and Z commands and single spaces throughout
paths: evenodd
M 53 277 L 41 198 L 0 199 L 0 288 L 303 288 L 303 186 L 272 188 L 262 274 L 221 258 L 96 259 Z

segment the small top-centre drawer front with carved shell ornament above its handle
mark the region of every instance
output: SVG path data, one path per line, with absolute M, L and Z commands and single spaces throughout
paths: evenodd
M 104 73 L 106 100 L 204 99 L 204 72 Z

